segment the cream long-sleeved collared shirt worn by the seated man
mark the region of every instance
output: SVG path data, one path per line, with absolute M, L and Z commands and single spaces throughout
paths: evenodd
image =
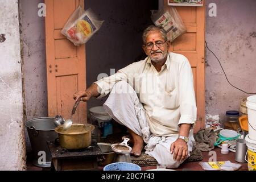
M 193 74 L 185 56 L 169 52 L 159 73 L 149 57 L 130 64 L 114 75 L 95 82 L 100 93 L 98 98 L 106 96 L 121 80 L 128 82 L 139 94 L 152 134 L 177 136 L 181 123 L 195 123 Z

